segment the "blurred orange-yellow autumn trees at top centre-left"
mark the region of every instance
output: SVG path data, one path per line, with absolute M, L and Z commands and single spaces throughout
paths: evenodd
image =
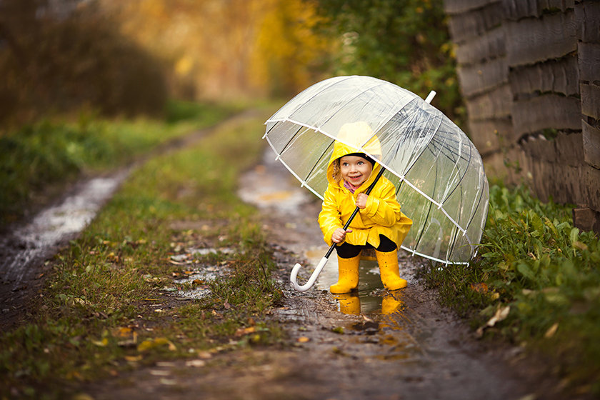
M 121 31 L 171 65 L 176 96 L 297 93 L 318 80 L 326 44 L 302 0 L 101 0 Z

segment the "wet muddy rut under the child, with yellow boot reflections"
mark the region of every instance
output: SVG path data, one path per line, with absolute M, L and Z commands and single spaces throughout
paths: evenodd
M 303 260 L 299 284 L 304 284 L 328 246 L 317 224 L 321 201 L 299 186 L 266 149 L 261 165 L 242 178 L 240 196 L 263 211 L 269 237 Z M 276 316 L 298 342 L 295 370 L 323 391 L 311 398 L 520 399 L 528 394 L 506 374 L 504 361 L 483 354 L 469 328 L 424 288 L 417 275 L 427 262 L 399 251 L 400 274 L 409 285 L 389 292 L 376 261 L 363 259 L 358 290 L 339 295 L 329 293 L 338 278 L 335 254 L 305 292 L 291 287 L 293 264 L 281 265 L 286 305 Z M 337 389 L 325 389 L 328 385 Z

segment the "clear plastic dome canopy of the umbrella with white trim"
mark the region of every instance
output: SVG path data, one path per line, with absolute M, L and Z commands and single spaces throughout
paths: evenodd
M 373 132 L 361 143 L 341 129 L 359 122 Z M 444 264 L 476 254 L 489 202 L 481 156 L 456 124 L 416 94 L 369 76 L 326 79 L 271 116 L 264 138 L 321 199 L 335 141 L 368 154 L 385 167 L 402 212 L 413 220 L 403 249 Z

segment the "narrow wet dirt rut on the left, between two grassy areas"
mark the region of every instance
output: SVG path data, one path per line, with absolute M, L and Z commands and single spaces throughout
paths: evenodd
M 256 116 L 256 111 L 244 111 L 221 124 L 252 116 Z M 44 261 L 54 256 L 61 246 L 74 239 L 94 219 L 101 206 L 111 198 L 131 171 L 159 154 L 191 146 L 214 132 L 218 126 L 168 141 L 117 171 L 82 179 L 39 214 L 0 232 L 0 331 L 20 323 L 26 302 L 38 294 L 44 283 L 47 272 Z

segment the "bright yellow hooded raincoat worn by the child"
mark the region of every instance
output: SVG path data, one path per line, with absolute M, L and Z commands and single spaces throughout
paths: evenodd
M 344 140 L 348 146 L 340 141 L 334 144 L 334 152 L 331 154 L 329 165 L 327 167 L 327 181 L 329 185 L 325 191 L 323 206 L 319 214 L 319 226 L 323 231 L 324 240 L 329 246 L 333 244 L 331 235 L 338 228 L 344 228 L 344 224 L 350 218 L 354 209 L 356 209 L 356 196 L 369 188 L 375 180 L 381 166 L 374 164 L 373 171 L 369 179 L 362 184 L 354 194 L 344 187 L 344 179 L 337 181 L 334 179 L 335 167 L 334 161 L 340 157 L 351 153 L 356 153 L 361 144 L 369 140 L 368 144 L 363 146 L 365 151 L 374 156 L 381 154 L 381 145 L 379 139 L 374 136 L 373 131 L 365 122 L 355 122 L 344 124 L 341 127 L 338 138 Z M 369 194 L 366 201 L 366 207 L 361 209 L 351 221 L 349 229 L 351 232 L 346 234 L 346 243 L 354 245 L 371 244 L 374 248 L 379 247 L 379 235 L 384 235 L 391 241 L 394 241 L 398 249 L 404 241 L 406 234 L 411 228 L 412 221 L 400 211 L 400 204 L 396 199 L 396 188 L 394 184 L 384 176 Z

